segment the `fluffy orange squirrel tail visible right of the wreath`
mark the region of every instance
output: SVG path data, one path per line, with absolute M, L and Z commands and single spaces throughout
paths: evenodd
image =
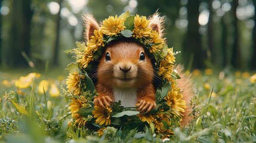
M 181 120 L 181 127 L 182 126 L 187 126 L 193 119 L 189 114 L 192 112 L 192 108 L 190 107 L 190 100 L 194 95 L 193 92 L 193 86 L 192 86 L 192 80 L 190 75 L 187 75 L 186 73 L 183 72 L 184 67 L 178 64 L 174 68 L 175 70 L 178 71 L 178 75 L 181 77 L 181 79 L 177 79 L 178 82 L 178 87 L 183 91 L 183 100 L 186 101 L 186 106 L 187 108 L 185 109 L 185 112 L 183 113 L 183 118 Z

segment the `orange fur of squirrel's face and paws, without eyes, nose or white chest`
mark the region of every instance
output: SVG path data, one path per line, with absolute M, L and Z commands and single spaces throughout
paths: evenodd
M 145 61 L 140 60 L 142 52 L 145 53 L 143 46 L 134 41 L 113 42 L 106 47 L 97 70 L 96 90 L 100 96 L 95 98 L 95 104 L 111 104 L 103 97 L 115 100 L 113 91 L 116 89 L 134 89 L 138 111 L 150 111 L 156 107 L 153 66 L 146 54 Z M 110 61 L 105 60 L 106 53 L 110 54 Z M 129 70 L 124 72 L 122 69 Z M 131 106 L 135 107 L 135 104 Z

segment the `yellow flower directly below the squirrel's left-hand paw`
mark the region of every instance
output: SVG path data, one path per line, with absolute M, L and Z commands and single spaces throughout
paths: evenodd
M 100 107 L 95 105 L 95 110 L 92 111 L 93 117 L 96 118 L 95 123 L 98 123 L 99 125 L 110 125 L 110 114 L 112 113 L 112 108 L 110 107 Z

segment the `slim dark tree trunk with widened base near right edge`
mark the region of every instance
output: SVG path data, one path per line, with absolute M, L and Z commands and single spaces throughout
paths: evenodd
M 232 12 L 233 12 L 233 26 L 234 26 L 234 33 L 233 33 L 233 48 L 232 48 L 232 58 L 231 58 L 231 64 L 236 69 L 242 68 L 242 57 L 240 52 L 240 46 L 239 46 L 239 29 L 238 29 L 238 17 L 236 16 L 236 9 L 238 8 L 238 0 L 233 0 L 232 2 Z

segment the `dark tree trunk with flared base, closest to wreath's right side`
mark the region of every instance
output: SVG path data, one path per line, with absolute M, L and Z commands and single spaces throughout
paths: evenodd
M 199 0 L 188 1 L 187 3 L 187 26 L 186 39 L 183 45 L 183 59 L 185 62 L 192 62 L 192 67 L 202 69 L 206 58 L 206 52 L 202 49 L 201 35 L 199 33 Z M 193 55 L 193 59 L 190 58 Z

